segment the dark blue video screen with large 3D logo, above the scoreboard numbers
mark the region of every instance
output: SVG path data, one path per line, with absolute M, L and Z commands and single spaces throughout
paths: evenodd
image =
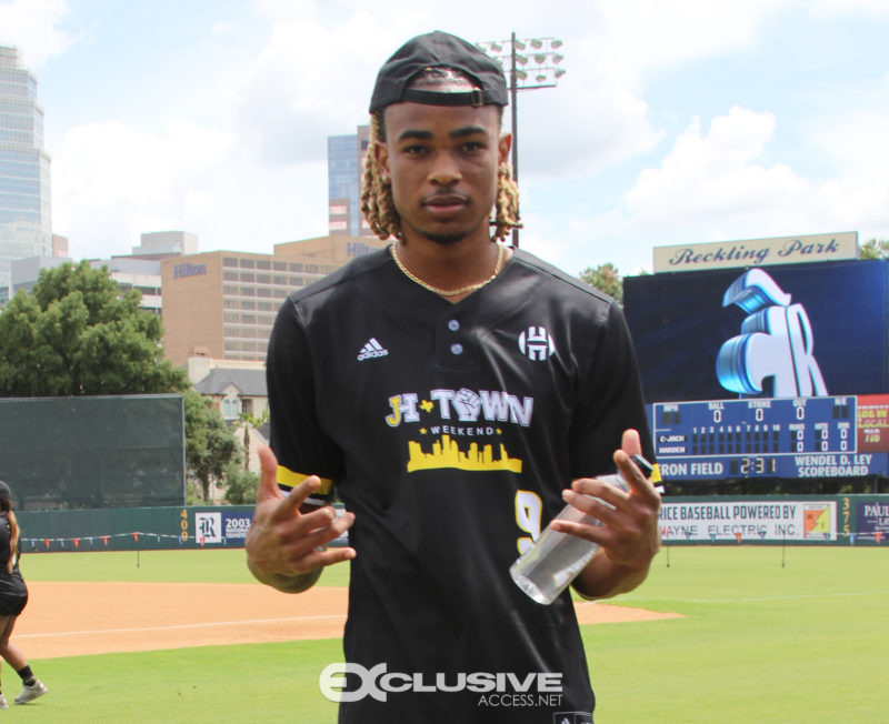
M 870 260 L 625 279 L 646 399 L 889 392 L 888 274 Z

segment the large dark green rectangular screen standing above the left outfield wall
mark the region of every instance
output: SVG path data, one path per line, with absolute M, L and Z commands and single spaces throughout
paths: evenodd
M 0 399 L 0 480 L 20 511 L 181 505 L 182 395 Z

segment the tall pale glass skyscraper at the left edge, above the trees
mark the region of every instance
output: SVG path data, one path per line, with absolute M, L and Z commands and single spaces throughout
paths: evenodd
M 52 255 L 49 167 L 37 77 L 0 46 L 0 296 L 13 259 Z

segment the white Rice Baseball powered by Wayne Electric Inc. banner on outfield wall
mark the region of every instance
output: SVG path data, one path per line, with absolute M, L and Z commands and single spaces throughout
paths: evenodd
M 671 502 L 660 510 L 661 536 L 666 543 L 781 541 L 835 541 L 835 500 L 727 500 Z

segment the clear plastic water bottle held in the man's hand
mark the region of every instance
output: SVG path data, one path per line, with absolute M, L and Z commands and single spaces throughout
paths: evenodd
M 648 477 L 652 466 L 641 455 L 632 455 L 631 460 Z M 630 486 L 618 470 L 612 475 L 597 475 L 596 480 L 605 481 L 629 492 Z M 590 496 L 592 497 L 592 496 Z M 609 503 L 596 497 L 603 505 L 612 507 Z M 601 521 L 592 515 L 579 511 L 573 505 L 566 505 L 557 519 L 587 525 L 601 525 Z M 525 593 L 538 603 L 549 605 L 565 591 L 583 567 L 592 560 L 599 545 L 568 533 L 547 529 L 510 566 L 509 573 Z

